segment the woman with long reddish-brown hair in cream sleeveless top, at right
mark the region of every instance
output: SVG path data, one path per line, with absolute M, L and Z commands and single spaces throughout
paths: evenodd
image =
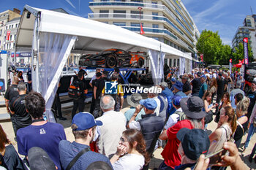
M 222 149 L 223 144 L 231 139 L 236 131 L 236 114 L 233 107 L 226 106 L 220 110 L 219 122 L 217 129 L 210 134 L 210 147 L 208 154 Z M 222 167 L 223 168 L 223 167 Z M 219 166 L 212 167 L 212 169 L 220 169 Z

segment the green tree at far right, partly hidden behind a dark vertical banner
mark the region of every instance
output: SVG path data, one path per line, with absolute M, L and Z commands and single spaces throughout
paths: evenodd
M 238 47 L 235 47 L 233 55 L 233 61 L 232 63 L 236 64 L 239 63 L 239 60 L 242 61 L 244 59 L 244 45 L 243 43 L 239 43 Z M 249 62 L 254 61 L 253 54 L 252 54 L 252 48 L 248 44 L 248 56 L 249 56 Z

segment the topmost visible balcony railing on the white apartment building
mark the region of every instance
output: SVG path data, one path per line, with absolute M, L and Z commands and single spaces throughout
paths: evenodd
M 164 9 L 162 4 L 148 4 L 141 2 L 130 2 L 130 1 L 91 1 L 89 6 L 129 6 L 129 7 L 146 7 L 154 9 Z

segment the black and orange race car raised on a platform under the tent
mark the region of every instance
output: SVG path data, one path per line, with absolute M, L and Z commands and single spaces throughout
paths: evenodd
M 135 66 L 141 68 L 144 64 L 144 57 L 138 55 L 140 52 L 127 53 L 121 49 L 108 49 L 98 54 L 82 55 L 79 59 L 80 66 L 92 67 L 126 67 Z

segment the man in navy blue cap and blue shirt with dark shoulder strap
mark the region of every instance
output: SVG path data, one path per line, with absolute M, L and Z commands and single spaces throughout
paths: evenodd
M 82 150 L 86 150 L 86 152 L 83 152 L 83 155 L 75 161 L 71 169 L 86 169 L 96 161 L 104 161 L 111 166 L 109 159 L 105 155 L 90 150 L 89 145 L 94 139 L 97 125 L 102 125 L 102 121 L 94 120 L 94 116 L 89 112 L 79 112 L 74 116 L 71 128 L 75 141 L 72 143 L 67 140 L 59 142 L 61 166 L 64 169 L 67 169 L 69 163 Z

